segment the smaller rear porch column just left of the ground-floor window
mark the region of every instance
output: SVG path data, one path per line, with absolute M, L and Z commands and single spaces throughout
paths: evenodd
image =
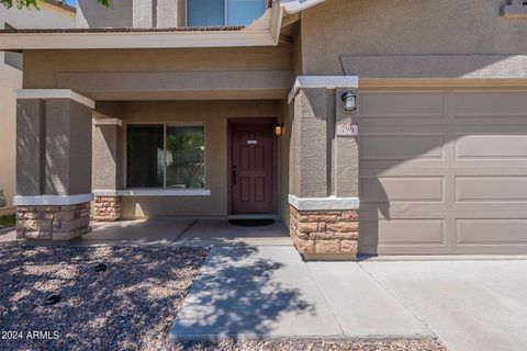
M 93 112 L 93 219 L 113 222 L 121 217 L 121 135 L 123 122 Z

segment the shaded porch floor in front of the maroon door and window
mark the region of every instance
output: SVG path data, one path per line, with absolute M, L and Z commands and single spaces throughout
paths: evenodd
M 292 246 L 282 222 L 238 227 L 227 219 L 154 218 L 93 223 L 80 245 Z

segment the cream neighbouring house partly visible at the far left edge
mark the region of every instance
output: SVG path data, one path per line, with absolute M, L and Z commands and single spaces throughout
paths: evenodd
M 43 2 L 40 10 L 5 9 L 0 7 L 0 29 L 53 29 L 75 27 L 75 8 L 58 2 Z M 15 115 L 14 89 L 22 88 L 23 56 L 20 53 L 0 52 L 0 190 L 7 206 L 0 216 L 14 213 L 15 194 Z

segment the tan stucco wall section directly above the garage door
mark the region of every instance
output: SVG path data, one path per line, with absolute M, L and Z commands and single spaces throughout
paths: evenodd
M 502 18 L 507 2 L 325 1 L 302 13 L 304 73 L 341 75 L 344 55 L 526 54 L 527 21 Z

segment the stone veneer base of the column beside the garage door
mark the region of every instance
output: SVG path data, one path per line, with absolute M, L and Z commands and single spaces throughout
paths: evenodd
M 357 211 L 299 211 L 290 206 L 290 236 L 305 260 L 356 260 Z

